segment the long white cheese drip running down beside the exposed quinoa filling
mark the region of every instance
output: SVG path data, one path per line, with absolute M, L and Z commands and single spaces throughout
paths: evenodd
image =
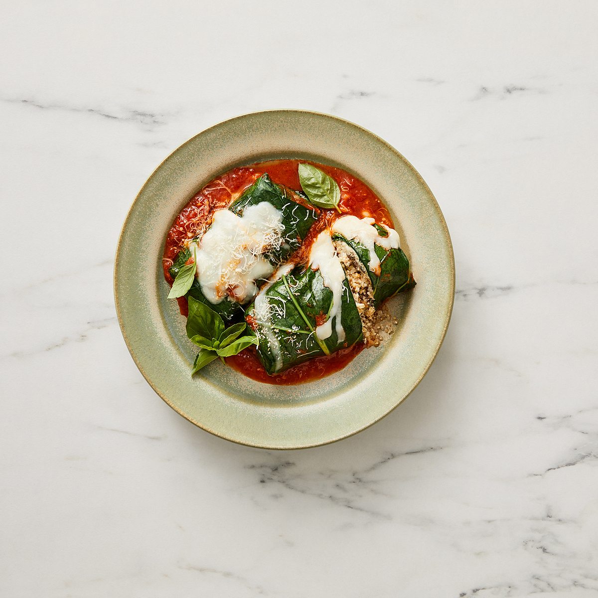
M 332 334 L 332 318 L 336 316 L 335 329 L 338 342 L 345 339 L 344 328 L 341 324 L 341 305 L 343 297 L 344 270 L 338 259 L 338 255 L 332 245 L 332 238 L 329 231 L 323 231 L 316 237 L 309 254 L 309 265 L 312 270 L 320 270 L 324 285 L 332 291 L 332 309 L 328 320 L 316 328 L 316 336 L 320 340 L 328 338 Z

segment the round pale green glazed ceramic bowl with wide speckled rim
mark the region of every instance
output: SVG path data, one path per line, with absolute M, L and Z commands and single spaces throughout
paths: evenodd
M 219 360 L 191 377 L 197 347 L 178 304 L 166 300 L 161 256 L 176 215 L 213 178 L 237 166 L 297 158 L 337 166 L 389 208 L 417 286 L 389 301 L 399 320 L 380 347 L 316 382 L 255 382 Z M 422 177 L 385 141 L 353 123 L 300 110 L 255 112 L 210 127 L 176 149 L 139 192 L 114 271 L 124 340 L 149 385 L 212 434 L 264 449 L 303 449 L 362 431 L 418 385 L 449 325 L 454 258 L 442 212 Z

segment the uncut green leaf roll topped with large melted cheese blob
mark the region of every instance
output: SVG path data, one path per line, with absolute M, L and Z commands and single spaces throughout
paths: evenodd
M 196 255 L 196 275 L 187 295 L 230 321 L 301 245 L 318 218 L 316 210 L 296 201 L 301 199 L 267 174 L 260 176 L 228 209 L 214 212 L 208 230 L 176 256 L 170 276 L 175 279 Z

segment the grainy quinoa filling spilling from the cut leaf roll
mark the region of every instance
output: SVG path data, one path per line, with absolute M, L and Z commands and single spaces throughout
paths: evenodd
M 398 322 L 390 316 L 386 305 L 377 310 L 374 307 L 374 289 L 370 277 L 355 251 L 344 241 L 335 240 L 332 243 L 353 292 L 355 305 L 361 318 L 365 346 L 377 347 L 384 338 L 383 332 L 392 334 L 394 332 L 393 324 L 396 325 Z

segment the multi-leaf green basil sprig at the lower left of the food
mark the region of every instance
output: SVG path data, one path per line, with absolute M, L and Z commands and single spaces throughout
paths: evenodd
M 178 278 L 178 277 L 177 277 Z M 193 363 L 193 376 L 218 357 L 224 363 L 225 357 L 237 355 L 252 344 L 258 344 L 257 336 L 245 322 L 224 328 L 222 318 L 202 301 L 187 297 L 189 315 L 187 317 L 187 336 L 191 342 L 200 347 Z M 240 336 L 242 332 L 247 332 Z

